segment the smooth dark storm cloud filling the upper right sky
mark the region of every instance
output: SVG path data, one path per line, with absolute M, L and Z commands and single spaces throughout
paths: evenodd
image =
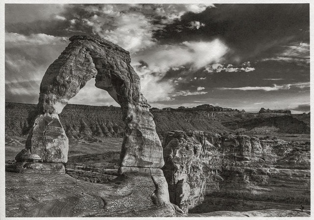
M 181 21 L 158 30 L 162 42 L 209 40 L 219 37 L 237 59 L 267 57 L 291 42 L 309 42 L 309 4 L 215 4 L 204 12 L 186 13 Z M 190 22 L 204 24 L 190 29 Z M 178 29 L 179 28 L 179 29 Z M 239 55 L 240 57 L 236 57 Z M 244 60 L 246 61 L 246 60 Z

